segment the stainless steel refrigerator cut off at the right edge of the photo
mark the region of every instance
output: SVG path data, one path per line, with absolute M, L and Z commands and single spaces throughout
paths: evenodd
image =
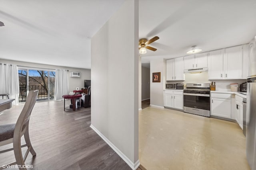
M 246 104 L 246 158 L 256 170 L 256 36 L 249 43 L 249 69 Z

